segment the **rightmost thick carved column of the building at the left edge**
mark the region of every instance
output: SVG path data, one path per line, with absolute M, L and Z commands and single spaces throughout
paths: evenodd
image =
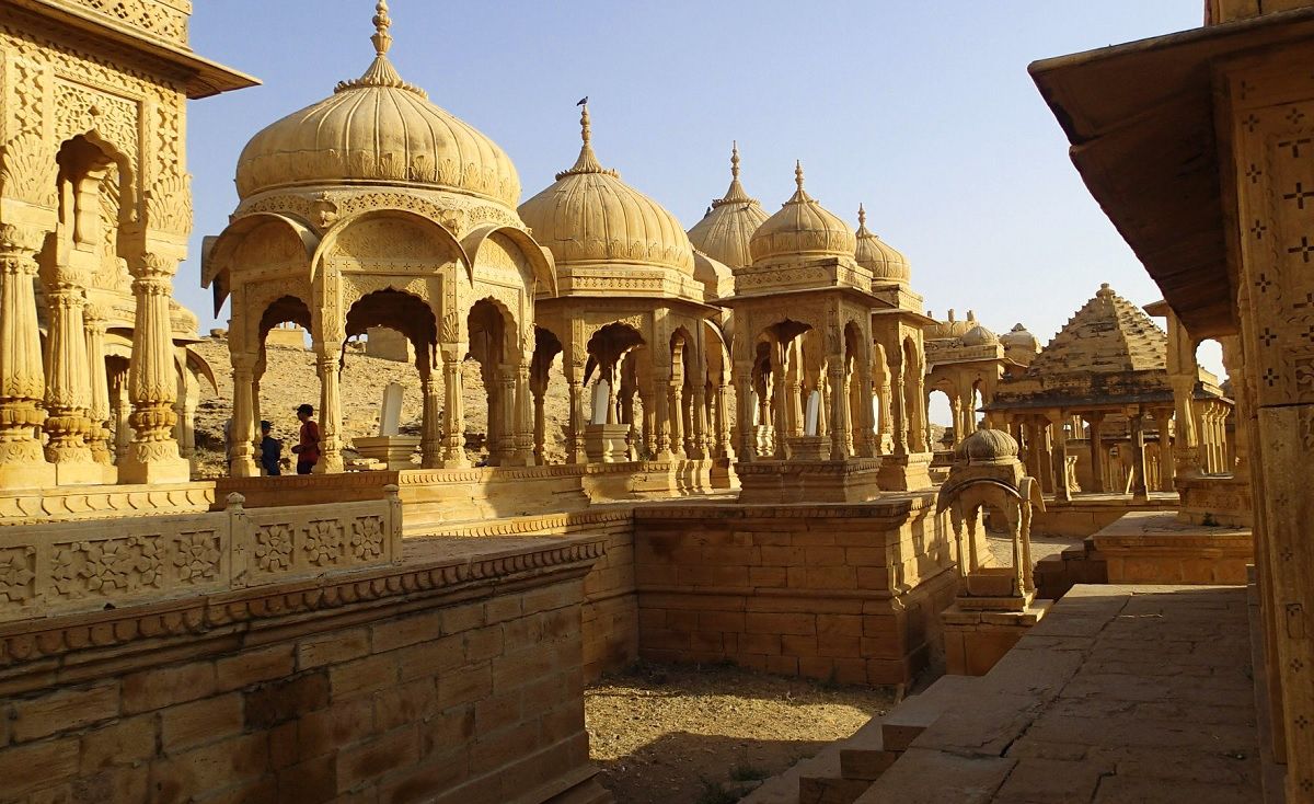
M 177 382 L 173 378 L 168 300 L 177 263 L 177 257 L 151 252 L 139 254 L 129 261 L 137 302 L 133 360 L 127 369 L 133 443 L 120 461 L 120 482 L 177 483 L 191 478 L 191 465 L 179 455 L 173 439 Z

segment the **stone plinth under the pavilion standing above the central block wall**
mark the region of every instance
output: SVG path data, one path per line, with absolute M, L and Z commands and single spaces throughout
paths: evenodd
M 859 503 L 880 494 L 882 461 L 740 461 L 740 502 L 773 503 Z

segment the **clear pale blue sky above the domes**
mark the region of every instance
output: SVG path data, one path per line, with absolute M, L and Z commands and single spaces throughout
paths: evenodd
M 857 226 L 866 205 L 938 317 L 974 309 L 987 327 L 1022 322 L 1047 340 L 1101 281 L 1137 303 L 1160 297 L 1083 187 L 1026 66 L 1194 28 L 1204 0 L 389 5 L 393 63 L 511 155 L 522 200 L 574 160 L 587 95 L 599 159 L 686 227 L 724 192 L 732 139 L 767 210 L 802 159 L 828 209 Z M 191 105 L 196 231 L 176 292 L 202 326 L 200 236 L 237 204 L 242 146 L 364 71 L 372 14 L 373 0 L 194 5 L 193 49 L 264 81 Z

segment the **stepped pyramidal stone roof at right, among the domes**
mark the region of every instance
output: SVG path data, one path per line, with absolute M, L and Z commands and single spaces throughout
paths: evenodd
M 1028 373 L 1105 374 L 1167 368 L 1168 335 L 1105 282 L 1041 349 Z

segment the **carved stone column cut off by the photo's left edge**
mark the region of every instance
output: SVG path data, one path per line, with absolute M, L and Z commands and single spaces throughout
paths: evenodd
M 35 254 L 43 233 L 0 226 L 0 487 L 49 486 L 55 468 L 46 462 L 37 428 L 46 376 L 37 328 Z

